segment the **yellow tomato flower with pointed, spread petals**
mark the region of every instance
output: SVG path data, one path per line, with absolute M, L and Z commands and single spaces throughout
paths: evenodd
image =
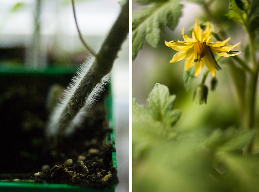
M 185 70 L 191 68 L 195 65 L 195 77 L 197 77 L 204 65 L 206 65 L 212 74 L 215 77 L 215 67 L 216 61 L 212 57 L 212 53 L 218 54 L 223 57 L 230 57 L 240 54 L 228 54 L 231 49 L 235 49 L 240 43 L 235 44 L 234 46 L 226 44 L 229 42 L 230 37 L 224 41 L 218 41 L 215 43 L 210 43 L 212 40 L 212 34 L 210 31 L 209 22 L 205 31 L 203 32 L 200 25 L 198 24 L 197 18 L 195 18 L 195 26 L 192 31 L 192 39 L 184 34 L 182 28 L 183 41 L 165 41 L 166 46 L 171 47 L 172 49 L 178 51 L 170 60 L 170 63 L 174 63 L 183 59 L 185 61 Z

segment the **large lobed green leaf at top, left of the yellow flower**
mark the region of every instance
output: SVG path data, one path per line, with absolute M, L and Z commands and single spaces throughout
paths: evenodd
M 159 1 L 161 2 L 161 1 Z M 165 25 L 174 30 L 182 15 L 183 5 L 179 0 L 155 3 L 132 14 L 132 60 L 143 48 L 145 39 L 154 47 L 160 42 L 160 31 L 165 32 Z

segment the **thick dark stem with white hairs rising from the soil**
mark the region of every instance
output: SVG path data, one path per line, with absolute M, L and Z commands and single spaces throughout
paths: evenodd
M 89 95 L 102 78 L 111 72 L 113 62 L 121 45 L 129 32 L 129 0 L 121 8 L 116 22 L 103 42 L 93 64 L 80 80 L 76 90 L 72 93 L 65 108 L 62 110 L 58 135 L 62 137 L 65 129 L 79 110 L 84 106 Z

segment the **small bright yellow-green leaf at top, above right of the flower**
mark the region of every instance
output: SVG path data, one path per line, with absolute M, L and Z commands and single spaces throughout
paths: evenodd
M 240 23 L 241 25 L 245 26 L 246 25 L 246 12 L 240 10 L 236 3 L 235 0 L 230 0 L 230 7 L 229 7 L 229 12 L 226 14 L 226 16 L 229 19 L 232 19 L 235 22 Z

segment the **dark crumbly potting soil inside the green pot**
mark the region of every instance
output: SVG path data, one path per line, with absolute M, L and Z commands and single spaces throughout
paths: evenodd
M 105 121 L 103 97 L 82 127 L 53 147 L 45 137 L 50 87 L 66 87 L 71 75 L 0 77 L 0 179 L 33 179 L 41 183 L 94 188 L 118 182 L 112 166 L 112 131 Z M 104 95 L 107 94 L 105 91 Z

